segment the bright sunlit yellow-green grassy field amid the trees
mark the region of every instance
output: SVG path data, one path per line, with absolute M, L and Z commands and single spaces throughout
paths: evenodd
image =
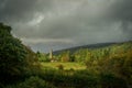
M 74 70 L 78 70 L 78 69 L 85 69 L 86 66 L 80 64 L 80 63 L 58 63 L 58 62 L 54 62 L 54 63 L 42 63 L 43 67 L 50 67 L 50 68 L 55 68 L 58 69 L 58 66 L 63 66 L 64 69 L 74 69 Z

